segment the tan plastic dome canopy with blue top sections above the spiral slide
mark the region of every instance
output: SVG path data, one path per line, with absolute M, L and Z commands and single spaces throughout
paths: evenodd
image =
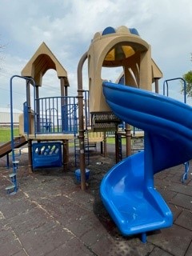
M 87 58 L 90 113 L 110 111 L 102 94 L 102 67 L 122 66 L 121 78 L 124 76 L 124 84 L 144 90 L 152 90 L 152 82 L 157 84 L 157 79 L 162 78 L 162 71 L 151 58 L 150 45 L 134 28 L 120 26 L 114 29 L 108 26 L 102 32 L 97 32 L 91 41 Z

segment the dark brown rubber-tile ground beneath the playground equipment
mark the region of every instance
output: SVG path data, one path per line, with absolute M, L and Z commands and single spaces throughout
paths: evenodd
M 190 256 L 192 255 L 192 162 L 189 177 L 181 182 L 184 166 L 155 175 L 157 190 L 174 214 L 170 228 L 147 235 L 122 237 L 102 205 L 99 184 L 114 166 L 114 146 L 108 157 L 90 154 L 87 190 L 74 178 L 71 148 L 69 169 L 34 170 L 28 173 L 27 154 L 20 157 L 17 194 L 6 194 L 10 185 L 6 158 L 0 158 L 1 256 Z M 150 214 L 150 213 L 149 213 Z

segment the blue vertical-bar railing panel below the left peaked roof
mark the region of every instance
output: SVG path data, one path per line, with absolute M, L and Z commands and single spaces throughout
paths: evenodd
M 36 134 L 77 134 L 77 98 L 49 97 L 35 100 Z

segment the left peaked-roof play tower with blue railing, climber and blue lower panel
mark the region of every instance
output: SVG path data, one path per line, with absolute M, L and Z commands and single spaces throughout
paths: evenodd
M 57 72 L 61 95 L 40 98 L 39 88 L 42 86 L 42 77 L 49 69 L 54 69 Z M 15 79 L 26 82 L 26 88 L 24 87 L 26 89 L 26 102 L 23 103 L 23 114 L 19 117 L 20 136 L 17 138 L 14 137 L 12 111 L 15 100 L 12 93 Z M 26 143 L 28 145 L 29 172 L 35 168 L 62 165 L 63 169 L 66 169 L 69 162 L 69 141 L 78 139 L 78 99 L 68 96 L 69 86 L 66 70 L 44 42 L 23 68 L 22 75 L 14 75 L 10 78 L 11 139 L 10 142 L 0 147 L 0 157 L 7 156 L 7 165 L 9 165 L 9 153 L 12 152 L 13 174 L 10 174 L 11 186 L 6 187 L 8 194 L 14 194 L 18 190 L 17 170 L 19 161 L 16 149 Z M 88 91 L 83 92 L 83 97 L 84 129 L 88 139 L 86 149 L 89 150 L 89 146 L 96 147 L 97 142 L 101 142 L 101 144 L 104 142 L 105 145 L 106 140 L 101 132 L 96 137 L 89 133 L 87 129 L 89 126 Z M 104 149 L 106 150 L 106 146 Z M 78 154 L 75 154 L 76 158 L 78 158 Z

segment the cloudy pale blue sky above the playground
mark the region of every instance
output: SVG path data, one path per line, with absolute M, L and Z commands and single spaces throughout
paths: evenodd
M 150 43 L 152 58 L 165 79 L 182 77 L 192 69 L 191 0 L 0 0 L 0 106 L 10 104 L 10 77 L 21 70 L 42 42 L 46 42 L 77 91 L 77 66 L 90 40 L 106 26 L 136 28 Z M 84 71 L 85 87 L 86 68 Z M 110 74 L 112 81 L 118 74 Z M 59 96 L 56 73 L 43 78 L 42 96 Z M 15 81 L 14 107 L 26 99 L 23 84 Z M 181 98 L 180 83 L 170 83 L 170 96 Z M 189 101 L 190 102 L 190 101 Z

